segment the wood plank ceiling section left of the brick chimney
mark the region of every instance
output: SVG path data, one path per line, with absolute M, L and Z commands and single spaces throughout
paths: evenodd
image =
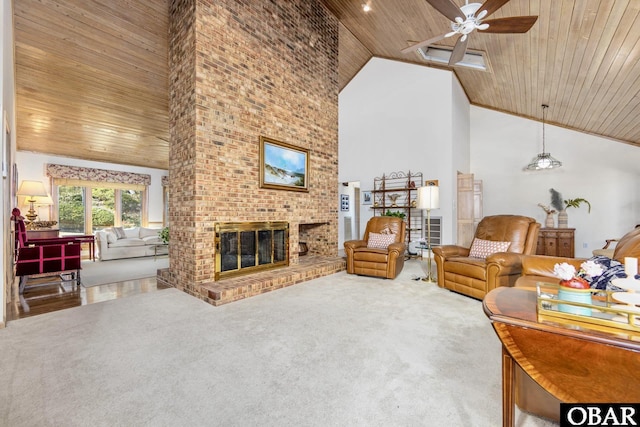
M 15 0 L 17 146 L 169 164 L 168 0 Z

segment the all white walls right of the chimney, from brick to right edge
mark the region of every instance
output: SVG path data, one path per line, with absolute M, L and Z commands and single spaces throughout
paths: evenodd
M 407 170 L 440 181 L 441 209 L 432 215 L 443 217 L 444 243 L 456 241 L 458 171 L 483 181 L 484 215 L 544 224 L 537 205 L 550 203 L 550 188 L 589 200 L 590 214 L 586 206 L 568 210 L 578 257 L 640 223 L 638 147 L 546 125 L 547 151 L 564 165 L 523 171 L 542 150 L 541 123 L 470 106 L 448 71 L 371 59 L 340 93 L 339 126 L 339 181 L 360 181 L 367 191 L 374 177 Z M 362 230 L 371 216 L 362 207 Z

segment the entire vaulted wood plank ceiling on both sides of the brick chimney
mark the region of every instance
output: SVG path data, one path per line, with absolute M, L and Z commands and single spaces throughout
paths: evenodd
M 425 0 L 322 1 L 340 21 L 340 89 L 373 56 L 445 68 L 473 105 L 539 120 L 547 104 L 548 123 L 640 146 L 637 0 L 510 0 L 492 18 L 539 19 L 471 34 L 488 72 L 400 52 L 450 31 Z M 18 149 L 167 168 L 168 3 L 14 0 Z

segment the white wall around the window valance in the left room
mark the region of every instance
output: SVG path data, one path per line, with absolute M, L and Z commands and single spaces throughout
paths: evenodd
M 168 171 L 163 169 L 143 168 L 128 165 L 117 165 L 113 163 L 92 162 L 89 160 L 72 159 L 49 154 L 32 153 L 28 151 L 18 151 L 16 153 L 16 164 L 18 165 L 19 181 L 24 179 L 42 181 L 47 186 L 49 178 L 45 175 L 46 165 L 55 163 L 58 165 L 81 166 L 87 168 L 109 169 L 115 171 L 125 171 L 151 175 L 151 185 L 149 186 L 149 222 L 162 223 L 163 194 L 162 176 L 168 175 Z M 50 190 L 50 188 L 47 188 Z M 45 214 L 46 210 L 41 210 Z M 48 214 L 45 215 L 49 219 Z

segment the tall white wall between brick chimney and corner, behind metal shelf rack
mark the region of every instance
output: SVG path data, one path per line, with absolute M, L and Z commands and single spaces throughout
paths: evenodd
M 448 71 L 372 58 L 340 92 L 338 181 L 360 181 L 360 190 L 370 191 L 385 173 L 422 172 L 440 181 L 441 209 L 432 215 L 451 218 L 455 169 L 468 168 L 454 157 L 469 158 L 468 114 L 464 105 L 453 107 L 454 98 L 464 98 L 456 84 Z M 362 206 L 360 215 L 364 232 L 373 211 Z M 450 220 L 443 235 L 453 241 Z

